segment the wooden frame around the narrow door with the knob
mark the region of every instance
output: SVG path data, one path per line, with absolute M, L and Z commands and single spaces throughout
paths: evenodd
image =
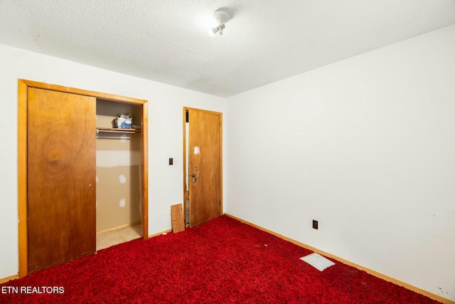
M 208 112 L 210 114 L 218 115 L 220 117 L 220 214 L 224 214 L 223 211 L 223 113 L 222 112 L 215 112 L 210 110 L 202 110 L 198 108 L 188 108 L 183 107 L 183 215 L 184 219 L 186 219 L 186 200 L 190 199 L 189 196 L 189 188 L 188 192 L 186 191 L 186 111 L 193 110 L 193 111 L 201 111 L 201 112 Z M 191 117 L 190 117 L 191 119 Z M 191 205 L 191 204 L 190 204 Z

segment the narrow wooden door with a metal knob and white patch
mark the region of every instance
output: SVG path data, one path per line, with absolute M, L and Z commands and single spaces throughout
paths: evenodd
M 190 227 L 221 215 L 221 113 L 188 110 Z

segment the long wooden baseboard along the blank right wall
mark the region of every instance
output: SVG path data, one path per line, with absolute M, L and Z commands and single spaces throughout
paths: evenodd
M 378 271 L 373 271 L 373 270 L 371 270 L 370 268 L 366 268 L 366 267 L 364 267 L 364 266 L 358 265 L 358 264 L 353 263 L 353 262 L 351 262 L 351 261 L 345 260 L 344 258 L 340 258 L 340 257 L 338 257 L 338 256 L 334 256 L 334 255 L 331 254 L 331 253 L 327 253 L 327 252 L 325 252 L 325 251 L 321 251 L 321 250 L 319 250 L 318 248 L 314 248 L 314 247 L 308 246 L 308 245 L 306 245 L 305 243 L 301 243 L 301 242 L 296 241 L 296 240 L 294 240 L 294 239 L 289 239 L 287 236 L 282 236 L 281 234 L 277 234 L 277 233 L 274 232 L 274 231 L 271 231 L 271 230 L 269 230 L 269 229 L 265 229 L 265 228 L 263 228 L 263 227 L 261 227 L 261 226 L 257 226 L 256 224 L 252 224 L 252 223 L 250 223 L 249 221 L 245 221 L 245 220 L 240 219 L 240 218 L 238 218 L 238 217 L 236 217 L 236 216 L 232 216 L 232 215 L 230 215 L 230 214 L 225 214 L 225 215 L 231 217 L 232 219 L 237 219 L 237 221 L 241 221 L 241 222 L 244 223 L 244 224 L 253 226 L 253 227 L 255 227 L 255 228 L 259 229 L 259 230 L 266 231 L 266 232 L 268 232 L 269 234 L 272 234 L 272 235 L 274 235 L 274 236 L 279 237 L 280 239 L 284 239 L 284 240 L 286 240 L 286 241 L 289 241 L 289 242 L 291 242 L 291 243 L 294 243 L 294 244 L 296 244 L 297 246 L 301 246 L 301 247 L 303 247 L 303 248 L 306 248 L 306 249 L 309 249 L 309 250 L 311 250 L 311 251 L 317 252 L 317 253 L 321 254 L 322 256 L 327 256 L 328 258 L 333 258 L 334 260 L 339 261 L 339 262 L 341 262 L 341 263 L 343 263 L 343 264 L 346 264 L 346 265 L 349 265 L 349 266 L 353 266 L 354 268 L 357 268 L 357 269 L 359 269 L 359 270 L 361 270 L 361 271 L 365 271 L 366 273 L 369 273 L 369 274 L 372 275 L 372 276 L 375 276 L 375 277 L 377 277 L 377 278 L 382 278 L 382 280 L 385 280 L 385 281 L 387 281 L 387 282 L 394 283 L 394 284 L 400 285 L 400 286 L 402 286 L 402 287 L 404 287 L 404 288 L 406 288 L 406 289 L 412 290 L 412 291 L 414 291 L 414 292 L 416 292 L 416 293 L 420 293 L 420 294 L 422 294 L 422 295 L 426 295 L 428 298 L 431 298 L 431 299 L 433 299 L 433 300 L 437 300 L 438 302 L 441 302 L 441 303 L 448 303 L 448 304 L 455 304 L 455 301 L 454 301 L 454 300 L 450 300 L 450 299 L 441 297 L 441 295 L 436 295 L 436 294 L 434 294 L 434 293 L 430 293 L 430 292 L 427 291 L 427 290 L 423 290 L 422 288 L 418 288 L 418 287 L 416 287 L 416 286 L 414 286 L 414 285 L 410 285 L 409 283 L 405 283 L 405 282 L 399 281 L 399 280 L 397 280 L 396 278 L 392 278 L 392 277 L 390 277 L 390 276 L 386 276 L 385 274 L 378 273 Z

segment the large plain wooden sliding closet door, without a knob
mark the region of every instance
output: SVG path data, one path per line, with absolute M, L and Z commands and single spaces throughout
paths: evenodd
M 28 273 L 96 251 L 96 100 L 28 88 Z

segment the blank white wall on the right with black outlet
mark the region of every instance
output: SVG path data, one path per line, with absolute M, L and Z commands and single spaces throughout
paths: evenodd
M 227 110 L 228 214 L 455 300 L 455 26 Z

